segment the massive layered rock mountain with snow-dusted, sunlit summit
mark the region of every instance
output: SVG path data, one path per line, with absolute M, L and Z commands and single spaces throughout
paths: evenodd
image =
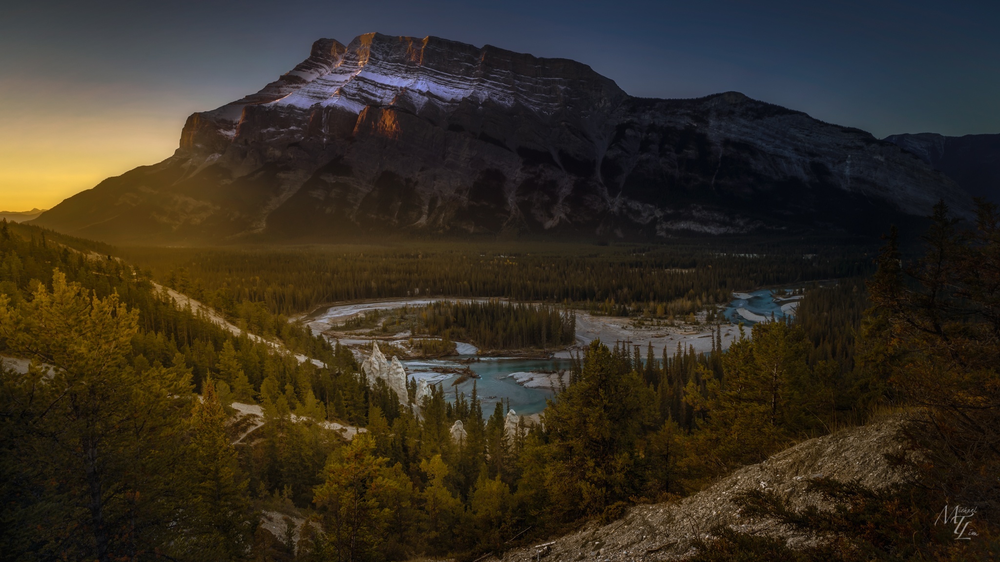
M 173 156 L 35 224 L 118 243 L 876 232 L 953 181 L 893 143 L 736 92 L 626 94 L 572 60 L 436 37 L 321 39 L 191 115 Z

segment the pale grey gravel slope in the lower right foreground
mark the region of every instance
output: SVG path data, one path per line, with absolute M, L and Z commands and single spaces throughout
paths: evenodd
M 814 478 L 857 480 L 873 489 L 899 483 L 903 474 L 890 465 L 886 454 L 902 453 L 901 429 L 902 421 L 890 418 L 810 439 L 760 464 L 744 467 L 682 501 L 636 506 L 609 525 L 591 523 L 572 535 L 509 551 L 503 560 L 679 560 L 691 554 L 694 537 L 705 536 L 720 524 L 783 538 L 794 547 L 810 537 L 796 535 L 774 520 L 741 517 L 731 499 L 748 490 L 773 490 L 799 509 L 818 501 L 806 490 Z

